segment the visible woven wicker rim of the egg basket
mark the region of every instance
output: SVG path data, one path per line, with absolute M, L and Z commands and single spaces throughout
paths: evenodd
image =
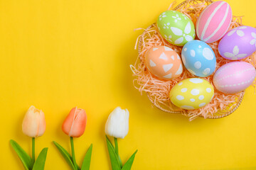
M 182 6 L 184 4 L 187 4 L 187 2 L 193 3 L 193 2 L 206 2 L 208 4 L 213 3 L 213 1 L 211 0 L 192 0 L 192 1 L 183 1 L 181 4 L 178 4 L 178 6 L 176 6 L 174 8 L 174 10 L 177 10 L 178 8 L 182 8 Z M 193 10 L 191 10 L 191 13 L 193 13 Z M 151 26 L 149 26 L 148 28 L 146 28 L 146 30 L 144 31 L 143 34 L 147 33 L 148 30 L 154 29 L 156 28 L 156 23 L 153 23 Z M 143 35 L 142 34 L 142 35 Z M 138 45 L 138 52 L 140 54 L 140 52 L 142 51 L 142 36 L 139 38 L 139 45 Z M 242 93 L 240 94 L 240 97 L 238 98 L 236 103 L 233 103 L 232 105 L 228 106 L 225 111 L 218 111 L 216 112 L 214 115 L 207 115 L 205 118 L 209 118 L 209 119 L 217 119 L 217 118 L 223 118 L 225 116 L 230 115 L 231 113 L 233 113 L 236 109 L 238 109 L 238 107 L 240 106 L 240 103 L 242 102 L 242 98 L 245 94 L 245 91 L 242 91 Z M 183 109 L 182 111 L 172 111 L 169 107 L 166 107 L 164 104 L 157 104 L 154 102 L 154 98 L 151 98 L 151 96 L 149 96 L 149 94 L 147 94 L 149 101 L 151 101 L 151 103 L 154 104 L 154 106 L 156 106 L 156 108 L 159 108 L 161 111 L 164 111 L 166 113 L 179 113 L 182 115 L 188 115 L 187 111 L 185 109 Z M 172 103 L 171 103 L 172 104 Z M 173 104 L 172 104 L 173 105 Z M 173 105 L 173 107 L 176 107 Z M 202 115 L 200 115 L 201 117 L 203 117 Z

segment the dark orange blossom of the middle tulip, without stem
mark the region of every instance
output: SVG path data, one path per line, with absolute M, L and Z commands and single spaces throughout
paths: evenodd
M 65 118 L 62 130 L 70 137 L 80 137 L 85 132 L 87 115 L 82 108 L 72 108 Z

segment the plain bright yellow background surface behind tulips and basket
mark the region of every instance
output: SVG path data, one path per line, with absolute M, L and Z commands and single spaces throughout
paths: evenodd
M 119 140 L 126 161 L 139 149 L 133 169 L 256 169 L 256 95 L 250 87 L 238 111 L 220 120 L 154 108 L 132 84 L 134 43 L 172 0 L 1 0 L 0 169 L 23 169 L 9 140 L 31 152 L 21 123 L 29 106 L 46 115 L 36 155 L 49 147 L 46 169 L 69 169 L 53 146 L 70 150 L 61 125 L 70 108 L 87 111 L 85 134 L 75 139 L 78 164 L 93 143 L 91 169 L 110 169 L 105 122 L 116 107 L 130 111 L 129 133 Z M 181 2 L 181 1 L 178 1 Z M 254 0 L 228 0 L 233 14 L 256 26 Z

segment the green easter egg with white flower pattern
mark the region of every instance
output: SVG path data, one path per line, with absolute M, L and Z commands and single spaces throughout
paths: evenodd
M 195 39 L 195 26 L 188 16 L 178 11 L 164 11 L 157 20 L 160 34 L 173 45 L 183 46 Z

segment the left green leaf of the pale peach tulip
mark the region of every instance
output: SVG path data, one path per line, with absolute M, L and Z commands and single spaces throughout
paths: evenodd
M 21 162 L 22 162 L 24 168 L 26 170 L 32 169 L 33 162 L 32 162 L 31 157 L 29 157 L 29 155 L 14 140 L 10 140 L 10 143 L 11 143 L 11 147 L 13 147 L 15 152 L 18 154 L 19 159 L 21 159 Z

